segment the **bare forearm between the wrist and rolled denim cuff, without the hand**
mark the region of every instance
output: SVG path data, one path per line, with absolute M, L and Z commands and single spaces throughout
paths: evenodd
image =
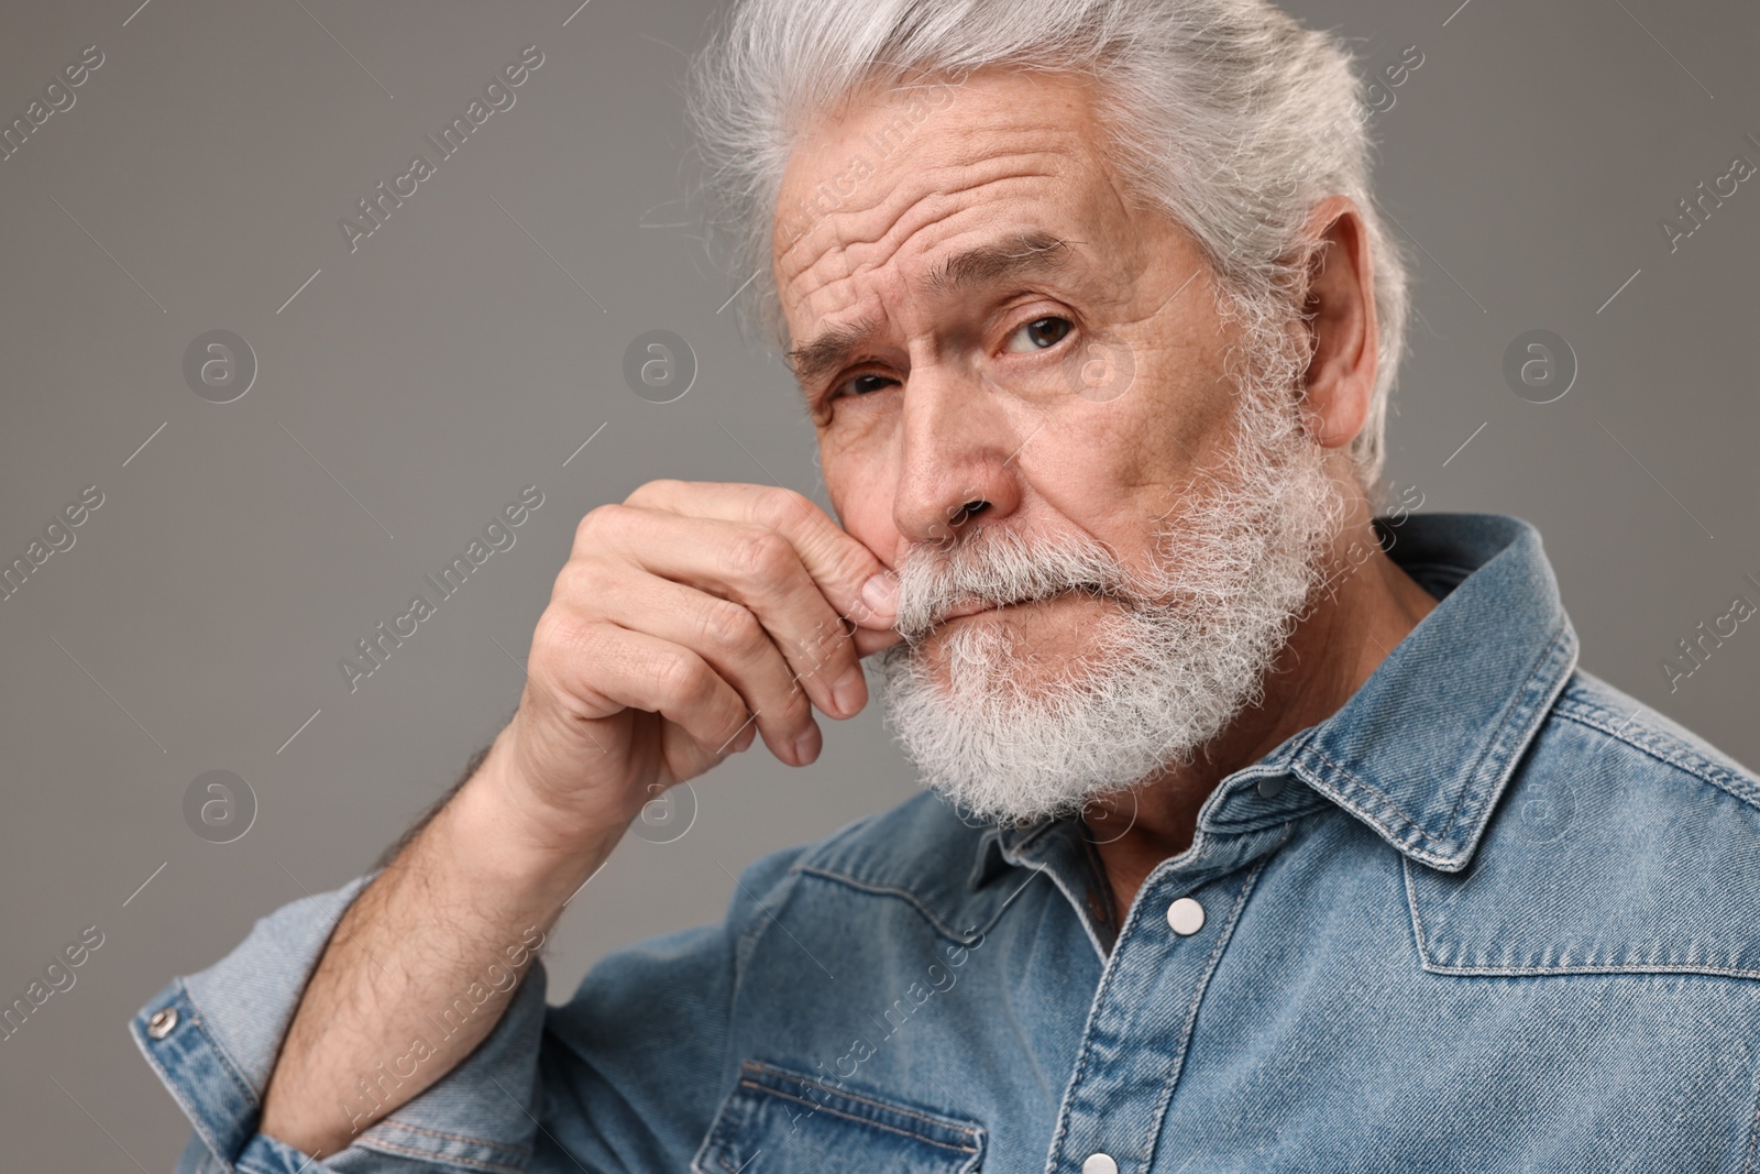
M 445 1075 L 491 1031 L 563 901 L 616 845 L 621 827 L 570 854 L 539 847 L 498 787 L 505 743 L 503 730 L 338 921 L 269 1077 L 264 1134 L 336 1153 Z

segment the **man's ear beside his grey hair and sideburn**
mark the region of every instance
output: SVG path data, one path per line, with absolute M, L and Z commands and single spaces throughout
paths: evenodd
M 1309 336 L 1302 408 L 1315 440 L 1341 449 L 1362 431 L 1375 396 L 1375 259 L 1362 215 L 1343 195 L 1315 206 L 1308 239 L 1313 253 L 1302 306 Z

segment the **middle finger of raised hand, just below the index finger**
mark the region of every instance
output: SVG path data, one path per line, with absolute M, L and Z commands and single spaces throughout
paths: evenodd
M 583 567 L 612 556 L 739 604 L 757 616 L 815 706 L 847 718 L 866 704 L 868 686 L 848 639 L 855 628 L 832 611 L 780 532 L 630 505 L 600 507 L 590 517 L 595 525 L 584 542 L 598 549 L 579 560 Z M 581 598 L 597 590 L 583 588 Z

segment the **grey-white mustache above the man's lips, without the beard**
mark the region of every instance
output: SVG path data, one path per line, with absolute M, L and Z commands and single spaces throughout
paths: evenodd
M 917 644 L 954 616 L 1061 595 L 1140 604 L 1132 576 L 1105 544 L 1084 533 L 1033 535 L 986 526 L 954 546 L 922 546 L 896 567 L 898 621 Z

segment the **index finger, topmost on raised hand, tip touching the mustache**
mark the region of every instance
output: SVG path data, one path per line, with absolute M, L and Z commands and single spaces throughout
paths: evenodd
M 887 565 L 803 493 L 741 482 L 651 481 L 627 505 L 774 530 L 799 551 L 806 572 L 840 616 L 864 628 L 891 628 L 896 620 L 892 600 L 878 593 L 864 598 L 875 576 L 880 583 L 892 581 Z

